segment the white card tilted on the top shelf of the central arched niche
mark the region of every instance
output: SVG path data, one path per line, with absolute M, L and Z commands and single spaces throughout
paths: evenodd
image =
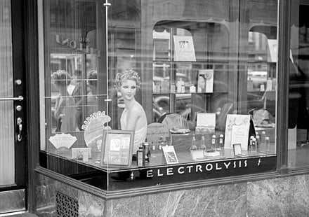
M 192 36 L 173 36 L 175 61 L 196 61 Z

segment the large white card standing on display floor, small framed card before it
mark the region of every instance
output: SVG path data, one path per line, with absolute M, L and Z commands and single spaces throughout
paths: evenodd
M 237 126 L 237 127 L 235 127 Z M 248 146 L 248 139 L 249 139 L 249 127 L 250 127 L 250 115 L 233 115 L 228 114 L 226 116 L 226 124 L 225 124 L 225 142 L 224 148 L 233 148 L 232 147 L 232 134 L 233 134 L 233 127 L 234 127 L 234 140 L 242 140 L 246 138 L 246 146 Z M 243 135 L 237 135 L 239 130 L 243 131 Z M 242 138 L 242 139 L 241 139 Z M 236 142 L 239 143 L 239 142 Z M 242 148 L 244 144 L 242 144 Z M 245 148 L 247 150 L 247 148 Z

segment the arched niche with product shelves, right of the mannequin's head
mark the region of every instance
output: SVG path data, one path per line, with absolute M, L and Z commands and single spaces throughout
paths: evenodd
M 235 69 L 225 58 L 226 38 L 228 30 L 215 23 L 169 21 L 155 25 L 152 97 L 156 114 L 180 113 L 192 120 L 198 111 L 216 111 L 213 98 L 228 94 L 228 72 Z M 217 39 L 222 43 L 212 43 Z

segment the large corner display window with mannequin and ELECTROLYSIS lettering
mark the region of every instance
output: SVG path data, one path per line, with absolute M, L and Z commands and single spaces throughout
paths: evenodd
M 44 1 L 43 37 L 41 166 L 103 190 L 275 172 L 277 1 Z

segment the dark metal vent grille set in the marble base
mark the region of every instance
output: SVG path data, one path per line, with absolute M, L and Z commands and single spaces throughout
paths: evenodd
M 59 217 L 79 216 L 78 201 L 62 193 L 55 193 L 55 208 Z

